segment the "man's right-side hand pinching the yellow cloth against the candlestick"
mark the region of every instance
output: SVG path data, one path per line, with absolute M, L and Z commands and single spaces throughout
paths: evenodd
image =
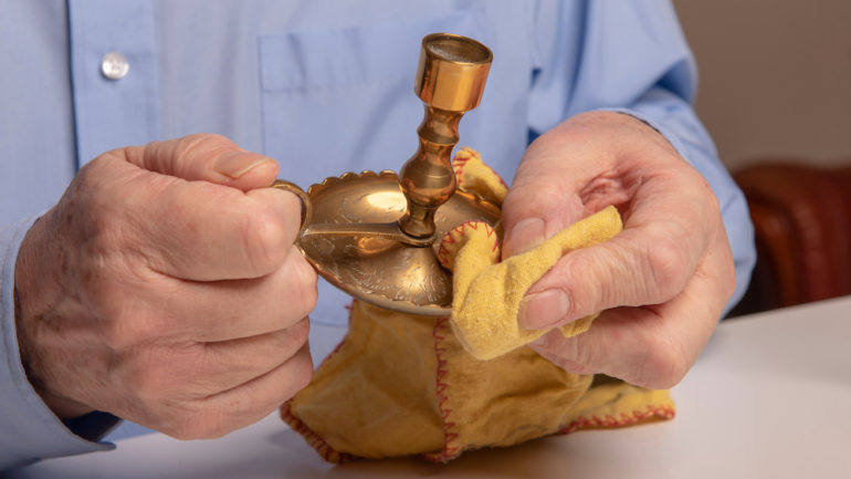
M 710 186 L 659 133 L 595 112 L 542 135 L 503 205 L 505 256 L 607 205 L 624 230 L 565 256 L 529 289 L 519 324 L 550 327 L 606 310 L 584 334 L 550 331 L 530 346 L 568 372 L 671 387 L 712 335 L 735 270 Z

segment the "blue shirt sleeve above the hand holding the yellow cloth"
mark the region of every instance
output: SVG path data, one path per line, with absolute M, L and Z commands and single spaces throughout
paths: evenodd
M 660 132 L 718 200 L 736 268 L 726 314 L 750 281 L 754 229 L 742 190 L 692 108 L 697 71 L 673 6 L 666 0 L 543 0 L 533 18 L 538 35 L 530 135 L 593 110 L 626 113 Z

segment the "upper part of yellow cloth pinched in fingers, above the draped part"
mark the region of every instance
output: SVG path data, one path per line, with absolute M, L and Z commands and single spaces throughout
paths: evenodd
M 462 148 L 453 166 L 459 188 L 502 205 L 507 188 L 477 152 Z M 492 360 L 540 337 L 547 330 L 517 325 L 526 291 L 569 251 L 606 241 L 621 229 L 618 210 L 610 206 L 503 262 L 498 262 L 500 239 L 490 225 L 471 221 L 449 231 L 438 258 L 453 272 L 452 331 L 479 360 Z M 582 333 L 593 317 L 566 324 L 561 333 L 567 337 Z

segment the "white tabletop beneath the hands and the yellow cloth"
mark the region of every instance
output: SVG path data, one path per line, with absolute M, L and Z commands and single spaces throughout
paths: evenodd
M 676 417 L 579 431 L 448 465 L 325 464 L 276 415 L 224 438 L 148 435 L 21 478 L 850 478 L 851 296 L 728 320 L 673 389 Z

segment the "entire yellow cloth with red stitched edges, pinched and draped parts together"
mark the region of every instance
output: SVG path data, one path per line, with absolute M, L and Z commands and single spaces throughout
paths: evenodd
M 477 153 L 462 149 L 453 167 L 459 188 L 502 202 L 507 188 Z M 283 419 L 326 460 L 343 462 L 408 455 L 446 461 L 469 449 L 673 417 L 666 391 L 567 373 L 524 346 L 544 331 L 516 325 L 528 287 L 563 254 L 612 237 L 620 225 L 608 208 L 504 262 L 498 225 L 459 226 L 438 254 L 453 271 L 452 317 L 355 301 L 348 334 L 283 405 Z M 561 333 L 579 334 L 591 321 Z

